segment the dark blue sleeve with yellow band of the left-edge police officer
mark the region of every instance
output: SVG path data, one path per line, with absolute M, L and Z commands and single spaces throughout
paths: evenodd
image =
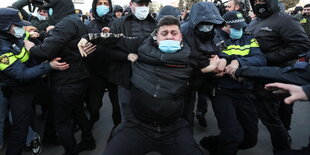
M 38 78 L 51 70 L 49 63 L 28 68 L 13 53 L 5 53 L 0 56 L 0 71 L 21 82 Z

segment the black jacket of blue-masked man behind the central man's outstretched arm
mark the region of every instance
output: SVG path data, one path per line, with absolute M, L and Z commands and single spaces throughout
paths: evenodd
M 103 27 L 110 27 L 113 21 L 111 0 L 109 0 L 110 12 L 102 17 L 99 17 L 95 11 L 97 9 L 97 2 L 98 0 L 93 1 L 92 10 L 94 10 L 93 16 L 95 19 L 87 25 L 88 33 L 100 33 Z M 109 59 L 105 52 L 103 52 L 104 50 L 109 49 L 98 45 L 97 50 L 85 58 L 85 62 L 91 74 L 107 78 L 109 74 Z

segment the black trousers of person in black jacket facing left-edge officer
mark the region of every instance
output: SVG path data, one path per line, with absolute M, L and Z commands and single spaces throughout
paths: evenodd
M 52 89 L 55 129 L 65 148 L 65 154 L 78 154 L 77 142 L 74 137 L 73 118 L 77 120 L 83 134 L 91 134 L 90 123 L 83 109 L 81 109 L 87 85 L 87 80 L 83 80 L 73 84 L 53 87 Z

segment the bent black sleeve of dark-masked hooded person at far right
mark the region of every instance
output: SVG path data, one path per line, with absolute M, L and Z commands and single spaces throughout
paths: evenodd
M 303 27 L 294 17 L 283 18 L 279 23 L 282 26 L 279 29 L 279 39 L 283 42 L 281 48 L 274 52 L 266 53 L 265 56 L 270 65 L 285 64 L 288 61 L 297 59 L 299 54 L 310 50 L 310 41 Z

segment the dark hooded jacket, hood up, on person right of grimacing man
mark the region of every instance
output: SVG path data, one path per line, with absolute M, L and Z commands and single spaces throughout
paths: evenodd
M 196 29 L 196 26 L 201 22 L 213 23 L 215 28 L 213 30 L 213 39 L 200 39 Z M 211 2 L 199 2 L 193 5 L 189 13 L 189 20 L 181 25 L 181 31 L 185 42 L 187 42 L 191 48 L 191 51 L 195 53 L 196 57 L 201 57 L 202 60 L 204 55 L 216 54 L 221 51 L 219 43 L 222 41 L 221 36 L 218 33 L 218 27 L 224 23 L 224 19 L 221 17 L 216 6 Z M 207 63 L 203 63 L 206 64 Z M 201 65 L 203 65 L 201 64 Z M 200 64 L 197 64 L 200 65 Z M 202 66 L 205 67 L 205 66 Z M 194 70 L 191 77 L 191 87 L 197 89 L 201 86 L 201 83 L 206 81 L 202 77 L 200 70 Z M 208 81 L 209 82 L 209 81 Z

